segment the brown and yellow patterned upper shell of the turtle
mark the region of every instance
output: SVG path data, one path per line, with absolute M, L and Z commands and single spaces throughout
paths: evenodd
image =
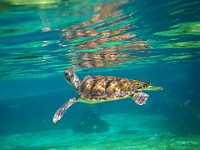
M 125 98 L 149 84 L 113 76 L 86 76 L 79 88 L 79 96 L 86 100 L 114 100 Z

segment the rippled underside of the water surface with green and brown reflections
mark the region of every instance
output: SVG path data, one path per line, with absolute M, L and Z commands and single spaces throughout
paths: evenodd
M 1 4 L 1 79 L 55 76 L 66 66 L 99 71 L 199 61 L 199 15 L 194 9 L 199 1 Z

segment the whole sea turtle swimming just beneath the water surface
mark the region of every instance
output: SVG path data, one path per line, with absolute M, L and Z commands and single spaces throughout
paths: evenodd
M 96 104 L 130 97 L 138 105 L 146 103 L 149 95 L 142 90 L 162 90 L 149 83 L 114 76 L 86 76 L 82 81 L 67 68 L 64 72 L 66 81 L 77 91 L 78 96 L 65 102 L 54 114 L 53 122 L 62 118 L 65 111 L 75 102 Z

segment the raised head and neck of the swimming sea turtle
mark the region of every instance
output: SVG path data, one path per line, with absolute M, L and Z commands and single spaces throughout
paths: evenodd
M 65 80 L 71 84 L 76 90 L 80 86 L 80 80 L 78 76 L 73 72 L 71 68 L 67 68 L 64 72 Z

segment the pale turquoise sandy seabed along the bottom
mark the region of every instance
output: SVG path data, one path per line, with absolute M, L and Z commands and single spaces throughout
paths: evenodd
M 110 114 L 101 119 L 109 131 L 73 133 L 71 129 L 1 136 L 1 150 L 198 150 L 200 135 L 183 135 L 164 127 L 158 115 Z

